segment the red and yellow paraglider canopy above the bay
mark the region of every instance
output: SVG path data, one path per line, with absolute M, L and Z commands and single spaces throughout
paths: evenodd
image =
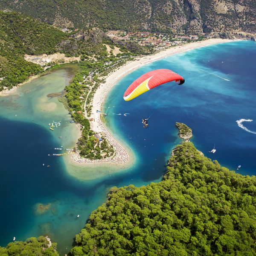
M 136 79 L 125 91 L 123 96 L 125 101 L 134 99 L 146 91 L 165 84 L 170 81 L 175 81 L 177 84 L 183 84 L 184 78 L 172 70 L 158 69 L 152 70 Z

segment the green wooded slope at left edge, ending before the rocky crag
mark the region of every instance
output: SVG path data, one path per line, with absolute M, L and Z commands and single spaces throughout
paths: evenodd
M 42 68 L 24 54 L 52 53 L 66 35 L 59 29 L 15 12 L 0 12 L 0 90 L 25 81 Z

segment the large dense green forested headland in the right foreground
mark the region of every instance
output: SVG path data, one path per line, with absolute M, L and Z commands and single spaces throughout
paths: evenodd
M 160 183 L 113 188 L 73 256 L 256 255 L 256 177 L 178 145 Z

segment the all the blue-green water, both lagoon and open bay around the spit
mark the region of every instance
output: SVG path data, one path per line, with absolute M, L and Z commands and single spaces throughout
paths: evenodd
M 0 245 L 15 236 L 48 234 L 67 253 L 93 209 L 106 201 L 111 186 L 137 186 L 161 180 L 172 148 L 180 143 L 175 122 L 192 128 L 192 142 L 207 157 L 239 173 L 256 171 L 256 43 L 239 41 L 172 55 L 128 74 L 105 102 L 105 122 L 136 154 L 124 172 L 84 181 L 70 176 L 64 157 L 54 148 L 70 148 L 77 129 L 57 98 L 72 70 L 57 70 L 0 98 Z M 185 83 L 168 83 L 125 102 L 123 93 L 143 73 L 168 68 Z M 118 115 L 118 114 L 121 115 Z M 124 113 L 129 113 L 124 116 Z M 149 119 L 144 129 L 142 118 Z M 244 129 L 239 127 L 237 120 Z M 49 130 L 48 123 L 61 121 Z M 246 131 L 246 129 L 249 131 Z M 61 137 L 61 138 L 59 138 Z M 215 144 L 216 153 L 210 154 Z M 64 152 L 64 150 L 62 150 Z M 44 165 L 43 165 L 44 164 Z M 47 167 L 49 165 L 50 167 Z M 48 207 L 41 210 L 38 205 Z M 77 214 L 80 215 L 77 218 Z

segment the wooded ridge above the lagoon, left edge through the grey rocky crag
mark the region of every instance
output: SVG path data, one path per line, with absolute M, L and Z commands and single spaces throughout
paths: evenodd
M 108 56 L 104 44 L 117 46 L 122 52 L 144 54 L 143 47 L 113 42 L 99 28 L 64 33 L 60 29 L 17 12 L 0 11 L 0 90 L 25 81 L 43 71 L 38 64 L 25 61 L 24 55 L 64 53 L 67 57 L 93 57 L 101 60 Z

